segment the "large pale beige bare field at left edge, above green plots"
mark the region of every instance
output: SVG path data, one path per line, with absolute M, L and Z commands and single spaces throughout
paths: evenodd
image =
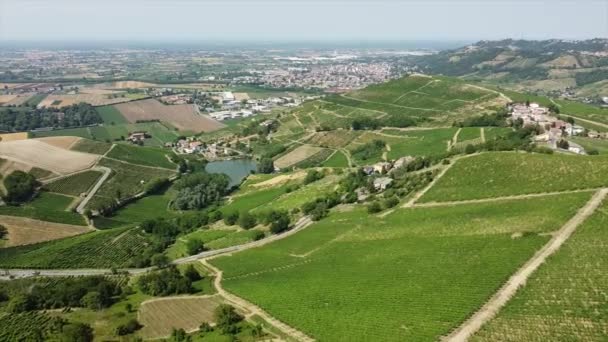
M 58 174 L 88 169 L 99 158 L 92 154 L 58 148 L 35 139 L 2 142 L 0 156 Z

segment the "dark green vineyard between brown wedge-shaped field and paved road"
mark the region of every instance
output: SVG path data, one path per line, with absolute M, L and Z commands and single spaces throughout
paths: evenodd
M 35 245 L 0 249 L 3 268 L 126 267 L 148 244 L 137 229 L 112 229 Z

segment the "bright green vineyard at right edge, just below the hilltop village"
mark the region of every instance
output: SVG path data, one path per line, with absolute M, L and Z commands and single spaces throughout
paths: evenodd
M 608 185 L 604 156 L 483 153 L 457 161 L 420 199 L 458 201 Z

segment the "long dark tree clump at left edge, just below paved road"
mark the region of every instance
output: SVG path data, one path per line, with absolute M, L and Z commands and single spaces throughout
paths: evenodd
M 0 301 L 8 300 L 11 313 L 65 307 L 107 308 L 122 288 L 104 277 L 63 278 L 56 281 L 34 280 L 29 286 L 11 287 L 0 284 Z

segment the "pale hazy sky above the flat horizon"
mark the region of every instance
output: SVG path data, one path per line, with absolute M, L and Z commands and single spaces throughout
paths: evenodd
M 608 0 L 0 0 L 0 40 L 608 37 Z

